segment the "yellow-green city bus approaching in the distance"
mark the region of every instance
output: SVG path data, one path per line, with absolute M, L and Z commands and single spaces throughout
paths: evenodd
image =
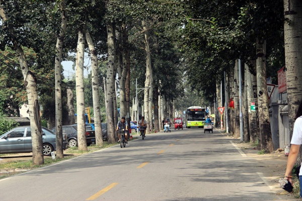
M 186 113 L 186 127 L 188 129 L 192 127 L 203 128 L 205 116 L 205 108 L 198 106 L 189 107 Z

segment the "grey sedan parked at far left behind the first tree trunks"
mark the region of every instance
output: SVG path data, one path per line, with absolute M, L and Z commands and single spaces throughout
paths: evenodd
M 42 127 L 43 155 L 49 156 L 56 149 L 55 133 Z M 63 149 L 68 148 L 63 135 Z M 0 154 L 30 153 L 33 151 L 30 126 L 17 127 L 0 136 Z

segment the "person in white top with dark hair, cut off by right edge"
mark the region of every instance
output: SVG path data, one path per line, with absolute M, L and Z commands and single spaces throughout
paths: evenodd
M 288 180 L 292 185 L 293 183 L 291 178 L 291 172 L 292 172 L 293 165 L 297 159 L 300 150 L 300 145 L 302 144 L 302 100 L 300 102 L 298 111 L 295 116 L 295 122 L 293 125 L 293 132 L 292 132 L 292 138 L 290 144 L 291 144 L 290 151 L 287 158 L 287 165 L 286 165 L 284 179 Z M 301 168 L 299 171 L 299 182 L 300 182 L 299 183 L 300 186 L 302 186 Z M 302 187 L 300 187 L 300 196 L 302 197 Z

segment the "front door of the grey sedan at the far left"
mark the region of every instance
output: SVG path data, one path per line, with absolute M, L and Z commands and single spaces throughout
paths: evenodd
M 0 153 L 18 153 L 24 150 L 25 128 L 17 128 L 0 139 Z

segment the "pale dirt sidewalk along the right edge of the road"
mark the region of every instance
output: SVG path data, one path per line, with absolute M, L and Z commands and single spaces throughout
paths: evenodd
M 218 130 L 218 129 L 217 129 Z M 275 151 L 271 154 L 260 155 L 259 150 L 252 147 L 250 143 L 241 143 L 240 139 L 234 139 L 227 133 L 221 133 L 225 138 L 229 138 L 235 147 L 238 148 L 239 152 L 246 154 L 248 158 L 258 161 L 258 172 L 256 176 L 262 178 L 263 182 L 270 187 L 270 189 L 278 195 L 287 195 L 286 200 L 302 200 L 299 198 L 299 193 L 287 193 L 285 190 L 280 188 L 279 179 L 283 178 L 286 169 L 287 157 L 284 151 Z M 294 183 L 298 185 L 298 181 Z

